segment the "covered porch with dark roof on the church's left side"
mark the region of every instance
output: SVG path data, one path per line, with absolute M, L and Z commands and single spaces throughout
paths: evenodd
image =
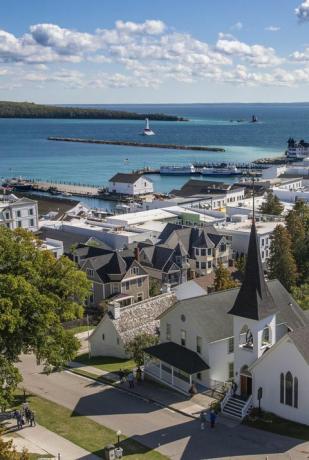
M 209 369 L 198 353 L 174 342 L 164 342 L 146 348 L 149 359 L 145 373 L 186 395 L 194 383 L 197 392 L 207 390 L 197 381 L 196 374 Z

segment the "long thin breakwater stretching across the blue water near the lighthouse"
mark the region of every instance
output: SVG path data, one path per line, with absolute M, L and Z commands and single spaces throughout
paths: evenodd
M 225 152 L 222 147 L 207 147 L 204 145 L 177 145 L 177 144 L 154 144 L 148 142 L 134 142 L 134 141 L 108 141 L 104 139 L 84 139 L 76 137 L 58 137 L 49 136 L 49 141 L 59 142 L 81 142 L 84 144 L 106 144 L 106 145 L 122 145 L 126 147 L 150 147 L 159 149 L 173 149 L 173 150 L 198 150 L 205 152 Z

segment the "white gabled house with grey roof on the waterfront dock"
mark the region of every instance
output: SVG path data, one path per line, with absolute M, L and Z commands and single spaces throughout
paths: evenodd
M 153 182 L 142 174 L 118 173 L 109 180 L 108 191 L 120 195 L 146 195 L 153 193 Z

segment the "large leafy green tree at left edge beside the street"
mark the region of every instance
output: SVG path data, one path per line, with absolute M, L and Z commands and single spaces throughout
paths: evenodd
M 67 257 L 41 250 L 26 230 L 0 227 L 0 404 L 11 402 L 21 377 L 21 353 L 34 353 L 46 370 L 71 360 L 78 341 L 62 327 L 81 317 L 90 283 Z

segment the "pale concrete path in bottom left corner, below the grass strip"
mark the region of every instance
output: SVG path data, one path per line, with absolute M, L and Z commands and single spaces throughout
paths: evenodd
M 11 432 L 15 432 L 15 420 L 10 420 L 7 426 L 11 428 Z M 55 458 L 58 458 L 58 454 L 60 454 L 61 460 L 100 460 L 96 455 L 40 425 L 35 427 L 25 426 L 22 430 L 16 431 L 16 433 L 20 438 L 13 437 L 12 439 L 18 450 L 21 450 L 24 445 L 30 452 L 33 446 L 35 451 L 31 453 L 42 453 L 42 458 L 44 458 L 44 452 L 45 455 L 48 453 Z M 6 433 L 5 436 L 9 438 L 10 432 Z M 20 441 L 21 438 L 25 440 L 24 444 Z

